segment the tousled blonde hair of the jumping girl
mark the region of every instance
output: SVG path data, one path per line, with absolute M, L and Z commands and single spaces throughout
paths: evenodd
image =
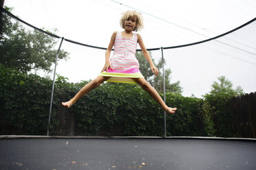
M 120 19 L 120 26 L 123 29 L 125 29 L 125 20 L 129 19 L 129 16 L 137 16 L 137 23 L 136 23 L 137 27 L 135 27 L 133 31 L 137 32 L 144 28 L 142 14 L 134 10 L 134 11 L 127 11 L 122 13 L 122 17 Z

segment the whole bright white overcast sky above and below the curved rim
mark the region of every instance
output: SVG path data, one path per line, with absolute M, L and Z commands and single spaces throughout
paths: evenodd
M 119 19 L 126 10 L 144 16 L 145 29 L 139 34 L 147 48 L 205 40 L 256 17 L 255 0 L 6 0 L 4 5 L 36 27 L 56 28 L 58 36 L 98 47 L 107 47 L 111 34 L 122 30 Z M 58 62 L 56 72 L 70 82 L 94 79 L 105 64 L 104 50 L 70 42 L 63 42 L 61 49 L 70 52 L 70 58 Z M 160 57 L 160 50 L 152 51 L 156 62 Z M 211 42 L 164 50 L 164 58 L 171 82 L 180 81 L 184 96 L 202 97 L 222 75 L 234 88 L 255 92 L 256 22 Z

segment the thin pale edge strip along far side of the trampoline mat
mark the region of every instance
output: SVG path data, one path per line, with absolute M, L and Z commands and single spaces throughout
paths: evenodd
M 202 139 L 202 140 L 229 140 L 229 141 L 254 141 L 256 138 L 222 138 L 222 137 L 206 137 L 206 136 L 41 136 L 41 135 L 0 135 L 0 139 L 19 139 L 19 138 L 74 138 L 74 139 L 111 139 L 111 138 L 164 138 L 164 139 Z

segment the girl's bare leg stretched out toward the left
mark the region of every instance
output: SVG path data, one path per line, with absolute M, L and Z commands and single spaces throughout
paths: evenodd
M 70 108 L 73 104 L 76 103 L 76 101 L 78 101 L 78 99 L 89 93 L 90 90 L 100 86 L 100 84 L 108 79 L 109 77 L 103 77 L 99 75 L 98 77 L 96 77 L 96 79 L 92 80 L 92 82 L 85 84 L 85 86 L 83 86 L 83 88 L 81 88 L 81 90 L 79 90 L 78 93 L 76 93 L 76 95 L 72 99 L 70 99 L 70 101 L 62 102 L 62 105 L 66 108 Z

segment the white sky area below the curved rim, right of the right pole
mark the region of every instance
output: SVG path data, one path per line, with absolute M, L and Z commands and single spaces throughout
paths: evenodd
M 231 80 L 234 86 L 244 87 L 246 93 L 255 90 L 255 30 L 254 22 L 210 42 L 165 49 L 164 58 L 173 71 L 172 80 L 180 80 L 181 86 L 186 87 L 183 95 L 204 95 L 220 76 Z

